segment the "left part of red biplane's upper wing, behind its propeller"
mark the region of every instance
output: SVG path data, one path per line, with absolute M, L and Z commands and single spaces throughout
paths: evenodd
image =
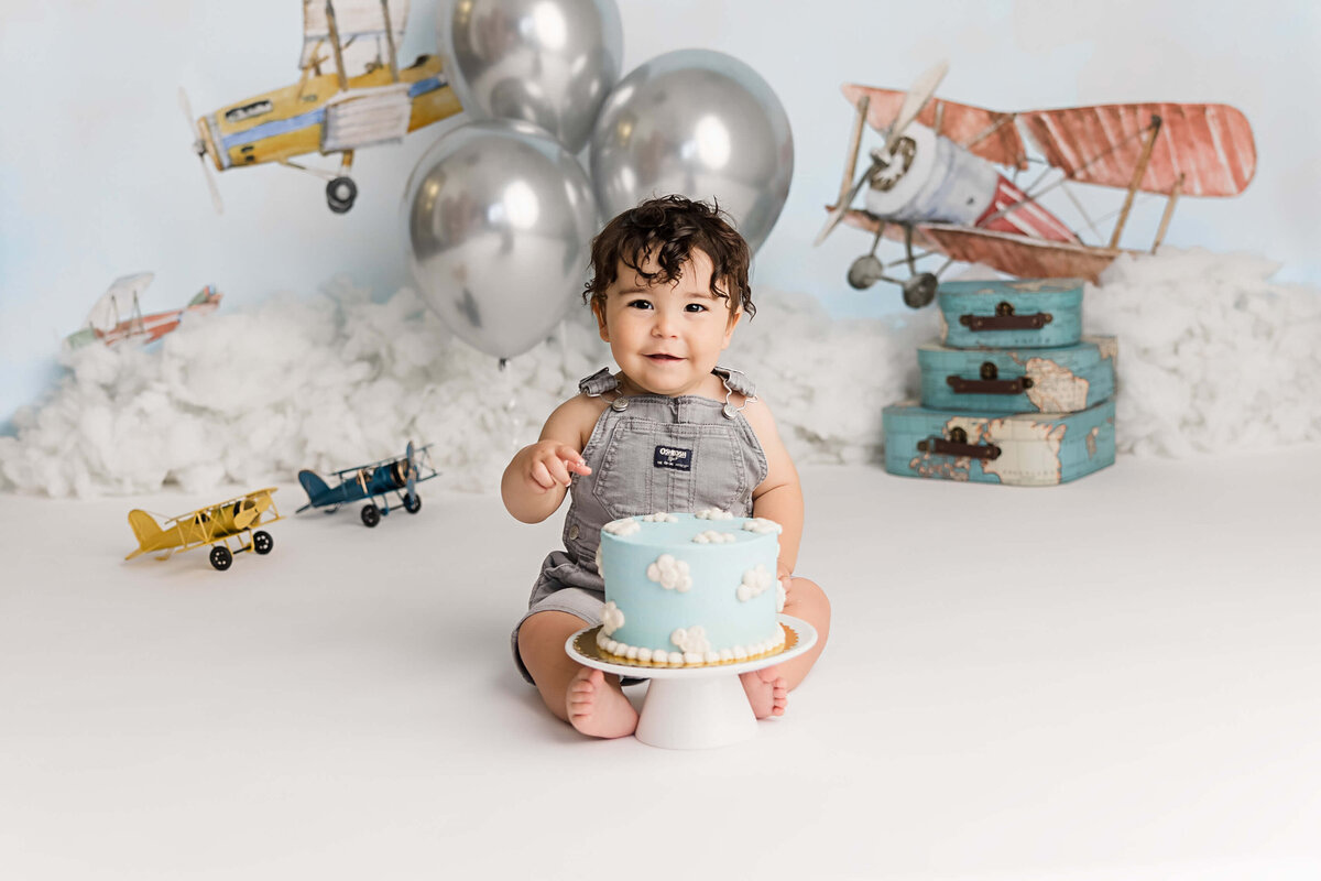
M 872 88 L 855 83 L 844 83 L 840 91 L 855 107 L 864 95 L 868 98 L 867 124 L 878 132 L 889 128 L 898 116 L 906 94 L 894 88 Z M 959 104 L 943 98 L 933 98 L 917 115 L 918 123 L 974 155 L 997 165 L 1024 169 L 1028 168 L 1028 153 L 1013 119 L 1015 114 Z

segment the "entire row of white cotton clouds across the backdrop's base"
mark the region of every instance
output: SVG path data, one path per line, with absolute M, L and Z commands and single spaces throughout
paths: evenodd
M 1119 337 L 1119 452 L 1321 440 L 1321 292 L 1271 283 L 1276 268 L 1162 248 L 1087 287 L 1086 333 Z M 938 335 L 937 309 L 838 320 L 807 293 L 758 287 L 756 297 L 757 317 L 723 363 L 756 383 L 799 465 L 877 461 L 881 409 L 914 396 L 915 347 Z M 577 380 L 610 363 L 587 309 L 502 371 L 412 291 L 374 302 L 336 280 L 310 297 L 222 308 L 147 349 L 66 355 L 58 388 L 15 415 L 16 437 L 0 437 L 0 489 L 94 497 L 292 482 L 303 468 L 324 474 L 413 440 L 433 444 L 433 485 L 494 493 Z

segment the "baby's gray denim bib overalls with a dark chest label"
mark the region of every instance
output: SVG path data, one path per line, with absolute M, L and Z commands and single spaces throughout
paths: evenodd
M 596 548 L 602 526 L 621 516 L 704 507 L 752 514 L 752 491 L 766 479 L 766 453 L 742 407 L 729 398 L 738 392 L 753 400 L 753 384 L 736 370 L 713 372 L 725 384 L 724 402 L 699 395 L 624 396 L 608 367 L 579 383 L 583 394 L 612 400 L 583 449 L 592 473 L 573 474 L 569 483 L 564 549 L 546 557 L 527 614 L 514 627 L 514 660 L 527 682 L 532 678 L 518 656 L 518 629 L 528 616 L 553 610 L 575 614 L 588 626 L 601 622 L 605 582 L 596 571 Z

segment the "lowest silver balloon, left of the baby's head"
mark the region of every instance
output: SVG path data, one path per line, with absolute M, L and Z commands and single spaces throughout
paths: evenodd
M 587 173 L 530 123 L 443 136 L 403 201 L 408 265 L 454 335 L 497 358 L 527 351 L 580 301 L 597 230 Z

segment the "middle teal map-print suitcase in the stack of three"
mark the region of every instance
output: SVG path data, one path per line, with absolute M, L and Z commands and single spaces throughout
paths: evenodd
M 1115 394 L 1114 337 L 1058 349 L 918 346 L 922 405 L 975 413 L 1066 413 Z

